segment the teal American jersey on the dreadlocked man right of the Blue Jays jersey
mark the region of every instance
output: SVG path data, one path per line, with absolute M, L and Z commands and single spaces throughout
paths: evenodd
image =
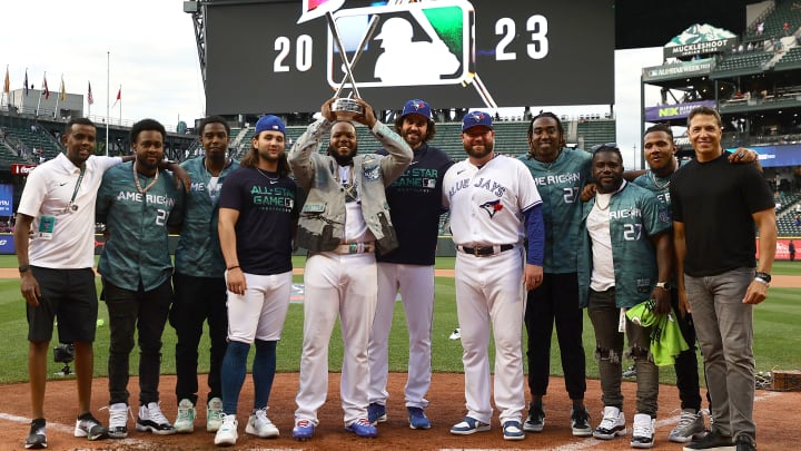
M 536 184 L 543 199 L 545 220 L 545 273 L 575 273 L 580 243 L 581 190 L 590 179 L 592 155 L 581 149 L 563 148 L 552 163 L 528 155 L 518 157 Z

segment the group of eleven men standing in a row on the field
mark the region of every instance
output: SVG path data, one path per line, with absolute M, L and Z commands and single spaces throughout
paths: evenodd
M 205 155 L 172 168 L 186 193 L 160 165 L 160 124 L 146 119 L 132 127 L 132 161 L 92 156 L 95 126 L 86 119 L 68 124 L 66 155 L 31 173 L 17 219 L 34 418 L 26 448 L 47 445 L 44 370 L 56 318 L 59 340 L 76 345 L 76 437 L 127 437 L 135 331 L 141 352 L 137 430 L 191 432 L 204 322 L 211 341 L 206 429 L 216 432 L 215 443 L 231 445 L 238 439 L 238 399 L 251 344 L 256 390 L 245 432 L 277 437 L 267 410 L 276 343 L 289 304 L 293 242 L 308 251 L 293 437 L 309 440 L 319 424 L 337 318 L 345 342 L 345 428 L 358 437 L 377 435 L 377 424 L 387 420 L 387 341 L 398 292 L 409 332 L 408 423 L 429 429 L 425 395 L 431 385 L 434 255 L 439 216 L 449 210 L 467 409 L 451 428 L 453 434 L 491 429 L 493 393 L 505 440 L 544 429 L 555 325 L 573 402 L 572 433 L 609 440 L 627 432 L 621 393 L 625 332 L 626 355 L 634 359 L 637 374 L 631 445 L 651 448 L 659 393 L 659 369 L 649 352 L 652 331 L 627 320 L 625 310 L 652 300 L 655 314 L 680 322 L 691 347 L 676 357 L 683 412 L 670 440 L 693 440 L 686 450 L 755 449 L 750 318 L 752 305 L 767 296 L 775 216 L 754 165 L 730 165 L 754 157 L 744 149 L 722 149 L 716 111 L 702 107 L 690 115 L 698 158 L 680 171 L 670 128 L 649 129 L 644 151 L 651 170 L 629 183 L 616 145 L 592 153 L 571 149 L 560 119 L 550 112 L 532 119 L 530 151 L 520 158 L 495 150 L 487 112 L 467 114 L 461 134 L 467 158 L 454 164 L 427 144 L 436 131 L 427 102 L 406 102 L 393 130 L 362 99 L 356 101 L 363 112 L 349 120 L 337 117 L 333 101 L 322 106 L 320 118 L 288 154 L 284 122 L 264 116 L 239 163 L 227 155 L 230 129 L 225 119 L 206 118 L 198 129 Z M 382 150 L 357 154 L 354 122 L 366 126 Z M 323 154 L 318 149 L 326 135 Z M 715 184 L 709 186 L 712 179 Z M 582 202 L 590 182 L 594 198 Z M 750 189 L 741 190 L 738 183 Z M 96 214 L 108 225 L 98 267 L 111 333 L 108 429 L 90 413 Z M 730 224 L 725 231 L 718 227 L 721 218 Z M 175 269 L 168 232 L 180 233 Z M 603 391 L 602 420 L 594 429 L 584 402 L 583 307 L 595 330 Z M 175 423 L 161 413 L 158 392 L 160 339 L 168 320 L 178 336 Z M 532 396 L 527 415 L 523 325 Z M 695 333 L 714 420 L 709 433 L 701 415 Z

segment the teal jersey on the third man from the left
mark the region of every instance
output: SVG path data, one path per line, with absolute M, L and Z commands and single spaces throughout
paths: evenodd
M 220 251 L 217 225 L 219 219 L 219 194 L 228 174 L 239 167 L 231 160 L 222 168 L 217 185 L 206 170 L 204 157 L 188 159 L 181 167 L 191 178 L 189 194 L 184 203 L 184 224 L 176 247 L 176 272 L 194 277 L 224 277 L 225 259 Z

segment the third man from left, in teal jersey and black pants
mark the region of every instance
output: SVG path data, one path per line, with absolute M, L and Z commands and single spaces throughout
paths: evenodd
M 176 297 L 169 314 L 178 337 L 175 389 L 178 416 L 174 424 L 178 433 L 195 430 L 198 344 L 204 322 L 208 322 L 210 341 L 206 430 L 216 432 L 219 429 L 222 413 L 220 365 L 228 333 L 226 266 L 219 247 L 217 218 L 222 183 L 239 163 L 228 158 L 230 127 L 224 118 L 209 116 L 201 120 L 198 136 L 205 155 L 181 164 L 192 183 L 175 253 L 172 286 Z

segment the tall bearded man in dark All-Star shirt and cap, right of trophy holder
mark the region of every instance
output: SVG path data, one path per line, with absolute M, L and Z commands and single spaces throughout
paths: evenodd
M 374 425 L 386 421 L 388 340 L 398 290 L 409 334 L 408 380 L 405 398 L 412 429 L 428 429 L 424 396 L 431 386 L 431 331 L 434 316 L 434 254 L 439 232 L 442 182 L 453 160 L 428 146 L 436 133 L 431 106 L 423 100 L 406 102 L 395 120 L 395 130 L 414 150 L 404 174 L 386 189 L 392 223 L 399 246 L 376 253 L 378 305 L 369 342 L 370 385 L 368 419 Z M 379 150 L 379 155 L 387 155 Z

